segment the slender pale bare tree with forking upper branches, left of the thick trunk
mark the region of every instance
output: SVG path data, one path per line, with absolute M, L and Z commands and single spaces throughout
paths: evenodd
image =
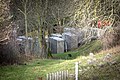
M 22 9 L 19 8 L 20 6 L 17 6 L 17 8 L 24 16 L 25 37 L 26 37 L 25 54 L 28 55 L 28 54 L 30 54 L 29 42 L 28 42 L 28 29 L 29 29 L 28 16 L 29 16 L 29 13 L 32 11 L 32 8 L 30 7 L 31 1 L 30 0 L 21 0 L 20 2 L 22 4 Z

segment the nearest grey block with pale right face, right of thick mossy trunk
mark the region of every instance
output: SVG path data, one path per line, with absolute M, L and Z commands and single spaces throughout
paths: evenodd
M 49 42 L 52 53 L 64 53 L 64 39 L 59 37 L 49 37 Z

